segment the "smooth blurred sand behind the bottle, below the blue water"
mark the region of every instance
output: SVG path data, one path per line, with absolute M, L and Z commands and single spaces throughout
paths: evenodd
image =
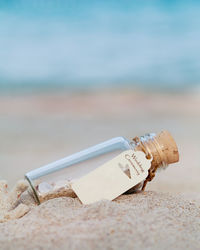
M 0 179 L 10 186 L 44 164 L 115 136 L 169 130 L 180 162 L 150 190 L 200 193 L 200 94 L 107 91 L 0 96 Z

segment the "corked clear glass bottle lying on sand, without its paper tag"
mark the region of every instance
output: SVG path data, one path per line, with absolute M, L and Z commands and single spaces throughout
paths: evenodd
M 129 192 L 144 189 L 146 183 L 155 176 L 157 168 L 165 168 L 168 164 L 179 160 L 174 139 L 168 131 L 162 131 L 157 135 L 151 133 L 136 137 L 132 141 L 124 137 L 112 138 L 30 171 L 25 175 L 25 178 L 28 180 L 38 204 L 60 196 L 75 197 L 75 193 L 70 189 L 72 181 L 103 165 L 121 152 L 130 149 L 143 151 L 147 158 L 152 157 L 152 163 L 146 180 L 133 187 Z

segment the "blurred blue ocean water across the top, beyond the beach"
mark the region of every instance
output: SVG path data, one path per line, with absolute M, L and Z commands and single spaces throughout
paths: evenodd
M 0 1 L 0 90 L 200 85 L 200 1 Z

